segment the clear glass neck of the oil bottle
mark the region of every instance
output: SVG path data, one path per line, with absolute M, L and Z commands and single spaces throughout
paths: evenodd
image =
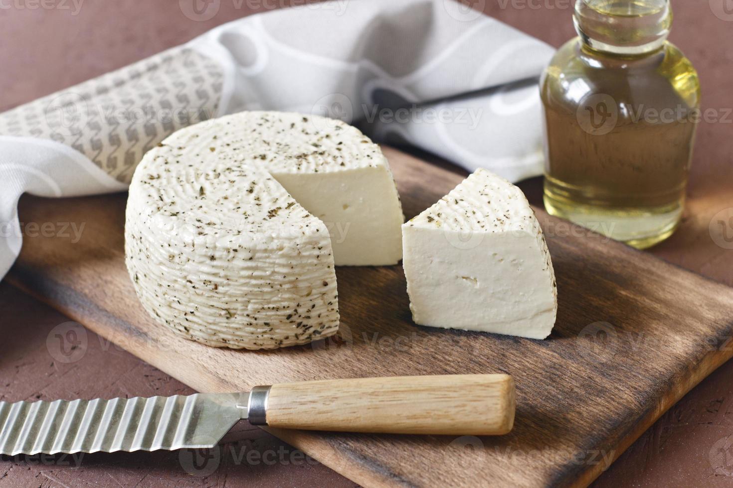
M 573 22 L 592 50 L 643 56 L 666 42 L 672 10 L 668 0 L 577 0 Z

